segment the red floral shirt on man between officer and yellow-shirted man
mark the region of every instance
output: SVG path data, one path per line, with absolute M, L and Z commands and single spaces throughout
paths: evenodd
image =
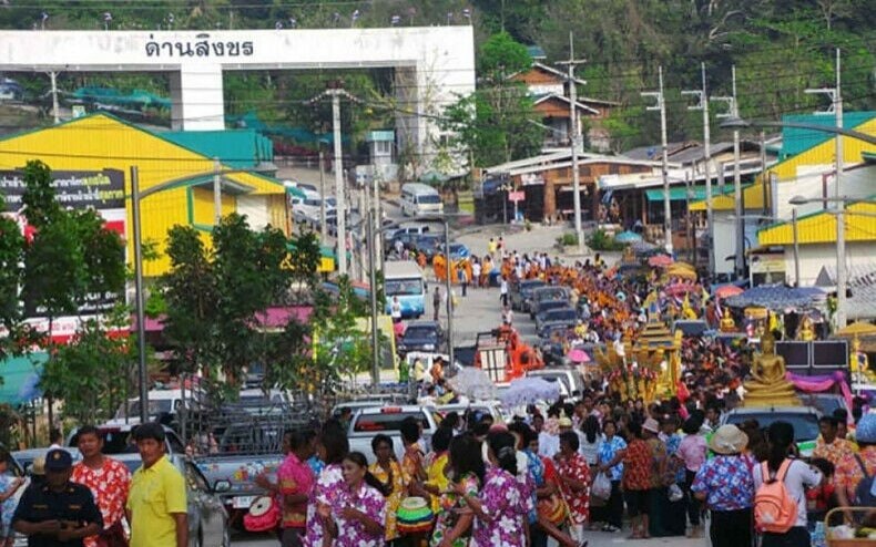
M 122 519 L 131 488 L 131 472 L 124 464 L 104 456 L 103 465 L 99 469 L 92 469 L 84 462 L 79 462 L 73 466 L 70 481 L 89 487 L 103 516 L 104 529 Z M 83 543 L 85 547 L 93 547 L 96 545 L 96 537 L 88 537 Z

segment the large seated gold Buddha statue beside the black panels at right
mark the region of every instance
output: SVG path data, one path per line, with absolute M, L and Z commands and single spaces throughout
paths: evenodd
M 743 406 L 799 406 L 794 385 L 785 379 L 785 360 L 775 353 L 773 334 L 761 338 L 761 352 L 755 353 L 750 372 L 752 380 L 743 385 Z

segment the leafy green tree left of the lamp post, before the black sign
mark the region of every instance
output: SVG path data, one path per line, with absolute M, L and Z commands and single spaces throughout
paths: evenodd
M 50 398 L 64 402 L 64 413 L 80 420 L 105 417 L 128 388 L 126 341 L 111 339 L 110 330 L 128 324 L 130 310 L 119 305 L 106 319 L 81 323 L 67 345 L 51 338 L 54 319 L 80 314 L 86 305 L 124 290 L 124 244 L 94 210 L 62 209 L 52 185 L 51 169 L 42 162 L 24 168 L 23 215 L 34 228 L 23 246 L 21 300 L 28 317 L 48 318 L 40 345 L 50 358 L 40 385 Z M 51 414 L 50 414 L 51 419 Z

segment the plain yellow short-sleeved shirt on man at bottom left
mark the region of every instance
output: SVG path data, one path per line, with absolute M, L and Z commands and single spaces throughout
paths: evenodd
M 174 513 L 187 513 L 185 479 L 162 456 L 149 468 L 136 469 L 128 496 L 131 514 L 131 547 L 169 547 L 176 545 Z

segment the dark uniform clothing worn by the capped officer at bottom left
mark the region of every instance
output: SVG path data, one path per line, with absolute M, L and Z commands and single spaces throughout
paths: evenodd
M 67 483 L 62 492 L 52 491 L 45 483 L 29 487 L 19 500 L 12 525 L 14 526 L 18 520 L 28 523 L 69 520 L 79 523 L 77 527 L 94 523 L 99 529 L 103 529 L 103 517 L 89 487 L 71 482 Z M 28 537 L 28 547 L 82 547 L 82 539 L 60 541 L 53 535 L 35 534 Z

